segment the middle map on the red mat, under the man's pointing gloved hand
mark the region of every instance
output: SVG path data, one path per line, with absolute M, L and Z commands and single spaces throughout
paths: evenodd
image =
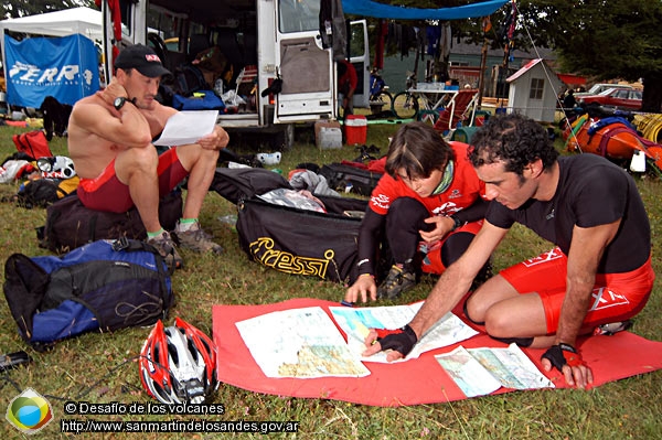
M 365 350 L 363 341 L 367 335 L 369 329 L 401 329 L 412 321 L 412 318 L 414 318 L 421 305 L 423 301 L 409 305 L 330 307 L 329 310 L 338 325 L 348 335 L 348 345 L 352 353 L 364 362 L 386 363 L 387 353 L 385 352 L 380 352 L 369 357 L 361 356 L 361 353 Z M 420 337 L 420 341 L 414 345 L 414 350 L 412 350 L 407 357 L 397 362 L 418 358 L 425 352 L 456 344 L 477 334 L 476 330 L 465 324 L 455 314 L 448 312 Z

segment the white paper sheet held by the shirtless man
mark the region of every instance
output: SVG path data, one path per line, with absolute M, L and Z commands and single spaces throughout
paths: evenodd
M 195 143 L 214 131 L 218 110 L 178 111 L 172 115 L 154 146 L 174 147 Z

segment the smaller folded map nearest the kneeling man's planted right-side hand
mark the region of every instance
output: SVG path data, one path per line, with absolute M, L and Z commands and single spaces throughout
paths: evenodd
M 514 389 L 554 388 L 516 344 L 508 348 L 465 348 L 438 354 L 446 369 L 467 397 L 483 396 L 501 387 Z

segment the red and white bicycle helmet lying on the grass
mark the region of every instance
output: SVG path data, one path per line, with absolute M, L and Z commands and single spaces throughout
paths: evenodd
M 180 318 L 166 329 L 159 320 L 140 352 L 140 380 L 163 404 L 203 404 L 218 387 L 216 346 Z

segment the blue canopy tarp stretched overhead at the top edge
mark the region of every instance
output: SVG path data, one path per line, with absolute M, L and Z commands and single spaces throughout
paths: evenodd
M 397 20 L 462 20 L 487 17 L 510 0 L 487 0 L 461 7 L 419 9 L 377 3 L 372 0 L 342 0 L 345 14 Z

